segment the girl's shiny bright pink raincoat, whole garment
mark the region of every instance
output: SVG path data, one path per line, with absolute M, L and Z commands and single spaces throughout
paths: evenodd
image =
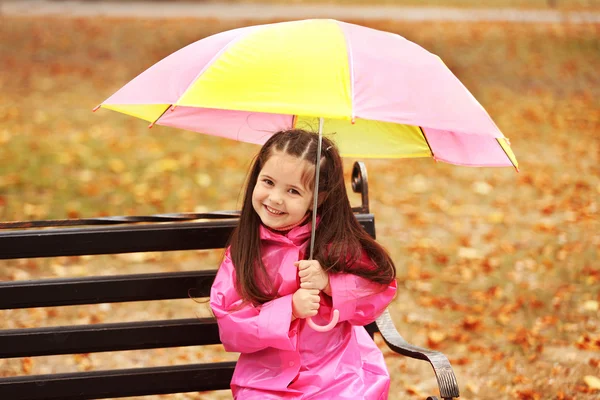
M 239 352 L 231 389 L 236 399 L 387 399 L 390 378 L 381 351 L 363 325 L 375 320 L 396 292 L 355 275 L 331 274 L 332 296 L 321 294 L 319 315 L 325 325 L 332 308 L 340 321 L 316 332 L 304 319 L 292 319 L 292 295 L 299 288 L 298 268 L 310 239 L 310 223 L 287 234 L 260 227 L 263 262 L 278 298 L 261 306 L 238 295 L 229 249 L 213 283 L 210 305 L 227 351 Z M 368 268 L 365 256 L 359 261 Z

